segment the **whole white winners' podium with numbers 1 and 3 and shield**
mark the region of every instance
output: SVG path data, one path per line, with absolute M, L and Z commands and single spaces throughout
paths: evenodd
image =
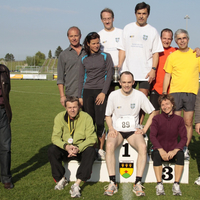
M 145 142 L 147 144 L 148 137 L 145 137 Z M 136 162 L 138 153 L 132 148 L 127 140 L 124 140 L 121 145 L 115 150 L 115 170 L 116 170 L 116 181 L 120 183 L 135 182 L 136 177 Z M 76 172 L 79 167 L 77 161 L 70 161 L 69 163 L 64 163 L 65 166 L 65 176 L 70 181 L 76 181 Z M 164 166 L 163 169 L 163 182 L 173 183 L 174 182 L 174 164 L 169 164 Z M 183 174 L 181 177 L 181 183 L 188 183 L 189 180 L 189 161 L 185 161 Z M 107 166 L 105 161 L 95 161 L 92 167 L 91 178 L 88 182 L 109 182 L 109 175 L 107 171 Z M 144 174 L 142 177 L 142 182 L 146 183 L 156 183 L 156 177 L 153 169 L 153 161 L 147 156 L 147 163 L 145 166 Z

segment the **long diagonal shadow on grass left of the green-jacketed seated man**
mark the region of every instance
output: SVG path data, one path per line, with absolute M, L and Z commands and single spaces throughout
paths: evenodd
M 50 145 L 51 144 L 42 147 L 39 152 L 30 158 L 26 163 L 19 165 L 11 171 L 13 174 L 12 180 L 14 183 L 49 162 L 47 150 Z

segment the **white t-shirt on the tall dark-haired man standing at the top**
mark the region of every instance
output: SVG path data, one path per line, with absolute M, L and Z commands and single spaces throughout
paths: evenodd
M 147 81 L 146 75 L 156 67 L 152 66 L 152 55 L 164 51 L 157 30 L 149 24 L 139 27 L 133 22 L 124 27 L 122 35 L 118 49 L 126 52 L 128 71 L 133 73 L 134 80 Z

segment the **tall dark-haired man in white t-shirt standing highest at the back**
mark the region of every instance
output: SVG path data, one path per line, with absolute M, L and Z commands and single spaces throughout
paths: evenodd
M 136 84 L 137 81 L 139 82 L 139 90 L 146 96 L 148 96 L 151 82 L 155 79 L 159 52 L 163 51 L 157 30 L 147 24 L 149 14 L 150 6 L 148 4 L 142 2 L 136 5 L 136 22 L 124 27 L 122 41 L 118 46 L 118 67 L 122 67 L 126 58 L 127 70 L 134 74 Z M 143 118 L 140 122 L 142 121 Z

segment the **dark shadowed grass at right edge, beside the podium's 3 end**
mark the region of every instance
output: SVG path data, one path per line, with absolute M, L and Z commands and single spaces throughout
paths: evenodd
M 191 158 L 197 162 L 197 168 L 200 174 L 200 137 L 195 137 L 194 135 L 192 136 L 189 150 Z

